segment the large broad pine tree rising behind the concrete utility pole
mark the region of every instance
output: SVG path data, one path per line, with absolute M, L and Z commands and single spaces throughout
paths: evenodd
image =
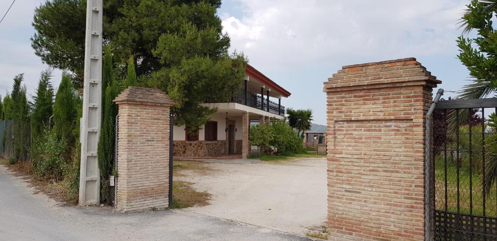
M 44 62 L 70 69 L 81 88 L 84 62 L 84 1 L 46 1 L 35 9 L 32 47 Z M 215 110 L 199 103 L 228 100 L 242 87 L 247 59 L 230 55 L 230 38 L 217 14 L 221 0 L 110 0 L 103 9 L 104 42 L 115 62 L 130 56 L 124 86 L 159 88 L 175 101 L 177 125 L 196 130 Z M 125 69 L 116 71 L 125 76 Z M 106 87 L 105 85 L 103 86 Z

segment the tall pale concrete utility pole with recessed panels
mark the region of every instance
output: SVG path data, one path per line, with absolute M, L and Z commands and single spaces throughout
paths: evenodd
M 102 119 L 102 0 L 86 1 L 83 118 L 80 123 L 80 206 L 100 203 L 97 146 Z

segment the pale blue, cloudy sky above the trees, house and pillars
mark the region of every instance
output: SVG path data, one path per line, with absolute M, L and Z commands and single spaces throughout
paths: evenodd
M 0 94 L 25 73 L 28 93 L 36 88 L 43 64 L 31 48 L 34 8 L 44 0 L 17 0 L 0 23 Z M 231 51 L 292 93 L 282 105 L 314 110 L 326 123 L 323 82 L 343 65 L 416 58 L 459 90 L 469 73 L 456 59 L 458 22 L 469 0 L 223 0 L 218 15 L 231 37 Z M 11 0 L 0 1 L 0 14 Z M 60 70 L 53 82 L 60 82 Z M 436 90 L 435 90 L 436 91 Z M 446 94 L 445 97 L 450 96 Z

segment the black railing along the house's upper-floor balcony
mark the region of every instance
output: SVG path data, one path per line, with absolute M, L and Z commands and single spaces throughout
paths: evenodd
M 252 92 L 247 92 L 247 98 L 245 96 L 245 90 L 239 90 L 233 93 L 232 97 L 228 101 L 219 100 L 207 100 L 206 103 L 239 103 L 249 107 L 253 107 L 259 110 L 267 111 L 272 114 L 279 116 L 285 115 L 285 107 L 279 105 L 278 103 L 267 101 L 267 98 L 261 97 L 260 95 L 254 94 Z M 268 106 L 269 104 L 269 106 Z

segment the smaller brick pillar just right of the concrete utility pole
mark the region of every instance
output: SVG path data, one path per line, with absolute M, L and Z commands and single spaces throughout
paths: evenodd
M 114 102 L 119 106 L 117 209 L 166 208 L 172 101 L 156 89 L 129 87 Z

